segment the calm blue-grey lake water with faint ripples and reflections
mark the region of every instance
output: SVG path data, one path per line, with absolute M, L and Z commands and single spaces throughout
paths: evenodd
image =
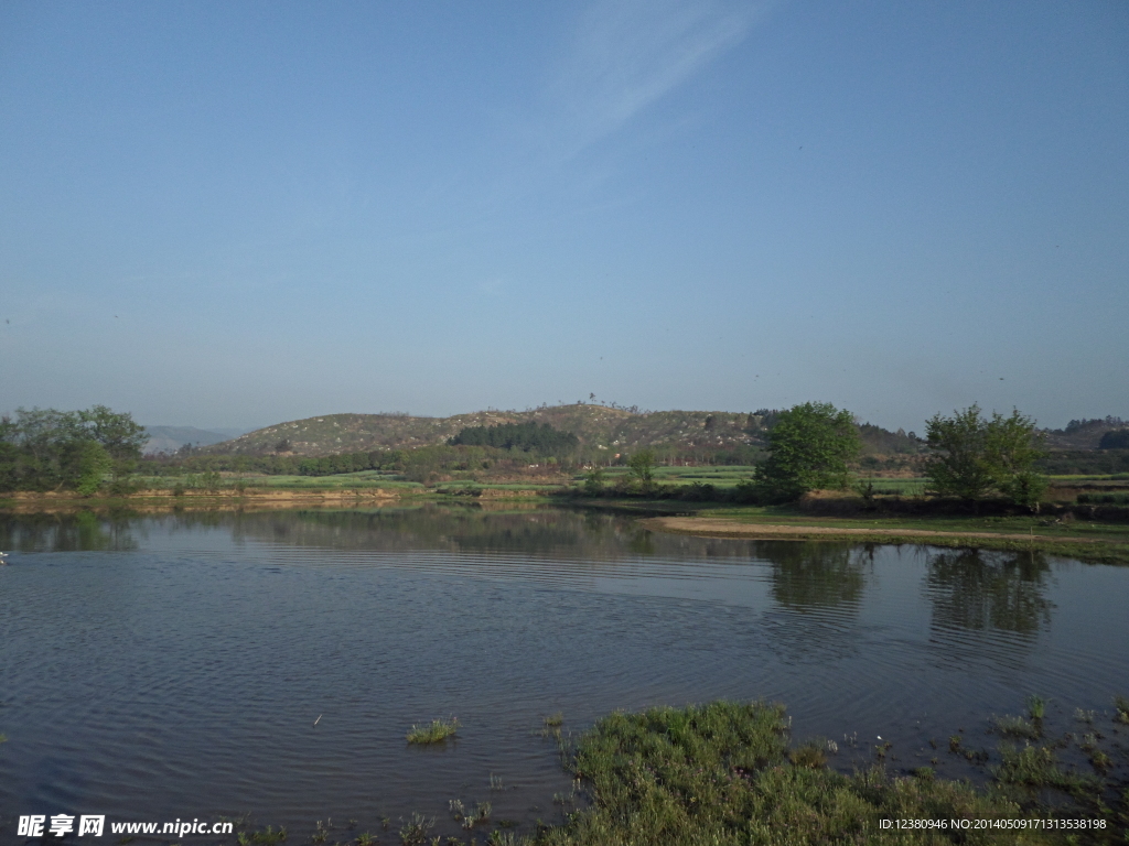
M 60 812 L 454 834 L 455 797 L 527 832 L 569 785 L 558 711 L 774 699 L 840 766 L 881 734 L 912 767 L 1029 694 L 1104 710 L 1129 679 L 1129 569 L 1040 555 L 443 508 L 2 517 L 0 549 L 2 843 Z M 456 741 L 404 742 L 448 715 Z

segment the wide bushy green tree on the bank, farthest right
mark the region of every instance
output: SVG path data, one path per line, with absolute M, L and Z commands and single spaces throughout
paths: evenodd
M 935 414 L 926 422 L 927 443 L 935 450 L 926 464 L 926 476 L 943 496 L 975 500 L 997 492 L 1022 505 L 1038 505 L 1047 479 L 1034 464 L 1047 455 L 1035 421 L 1013 408 L 1005 417 L 980 414 L 979 405 L 953 413 Z

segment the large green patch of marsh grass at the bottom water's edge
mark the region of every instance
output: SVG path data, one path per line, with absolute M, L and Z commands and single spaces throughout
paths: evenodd
M 882 767 L 846 776 L 799 766 L 824 747 L 789 749 L 780 705 L 717 702 L 615 713 L 580 735 L 570 769 L 592 805 L 539 831 L 543 846 L 666 846 L 883 841 L 881 819 L 1016 818 L 1017 803 L 969 784 L 892 777 Z M 798 755 L 800 750 L 809 752 Z M 1031 836 L 1029 837 L 1027 834 Z M 994 834 L 954 832 L 963 843 Z M 949 841 L 948 832 L 900 831 L 898 844 Z M 1025 832 L 1021 840 L 1045 841 Z

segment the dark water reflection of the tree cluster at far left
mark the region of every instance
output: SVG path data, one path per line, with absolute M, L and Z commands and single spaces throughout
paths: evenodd
M 134 523 L 132 514 L 99 517 L 89 511 L 0 517 L 0 549 L 21 553 L 129 552 L 138 548 Z

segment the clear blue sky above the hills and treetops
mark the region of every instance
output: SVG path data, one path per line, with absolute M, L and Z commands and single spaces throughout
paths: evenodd
M 0 3 L 0 411 L 1129 417 L 1129 3 Z

